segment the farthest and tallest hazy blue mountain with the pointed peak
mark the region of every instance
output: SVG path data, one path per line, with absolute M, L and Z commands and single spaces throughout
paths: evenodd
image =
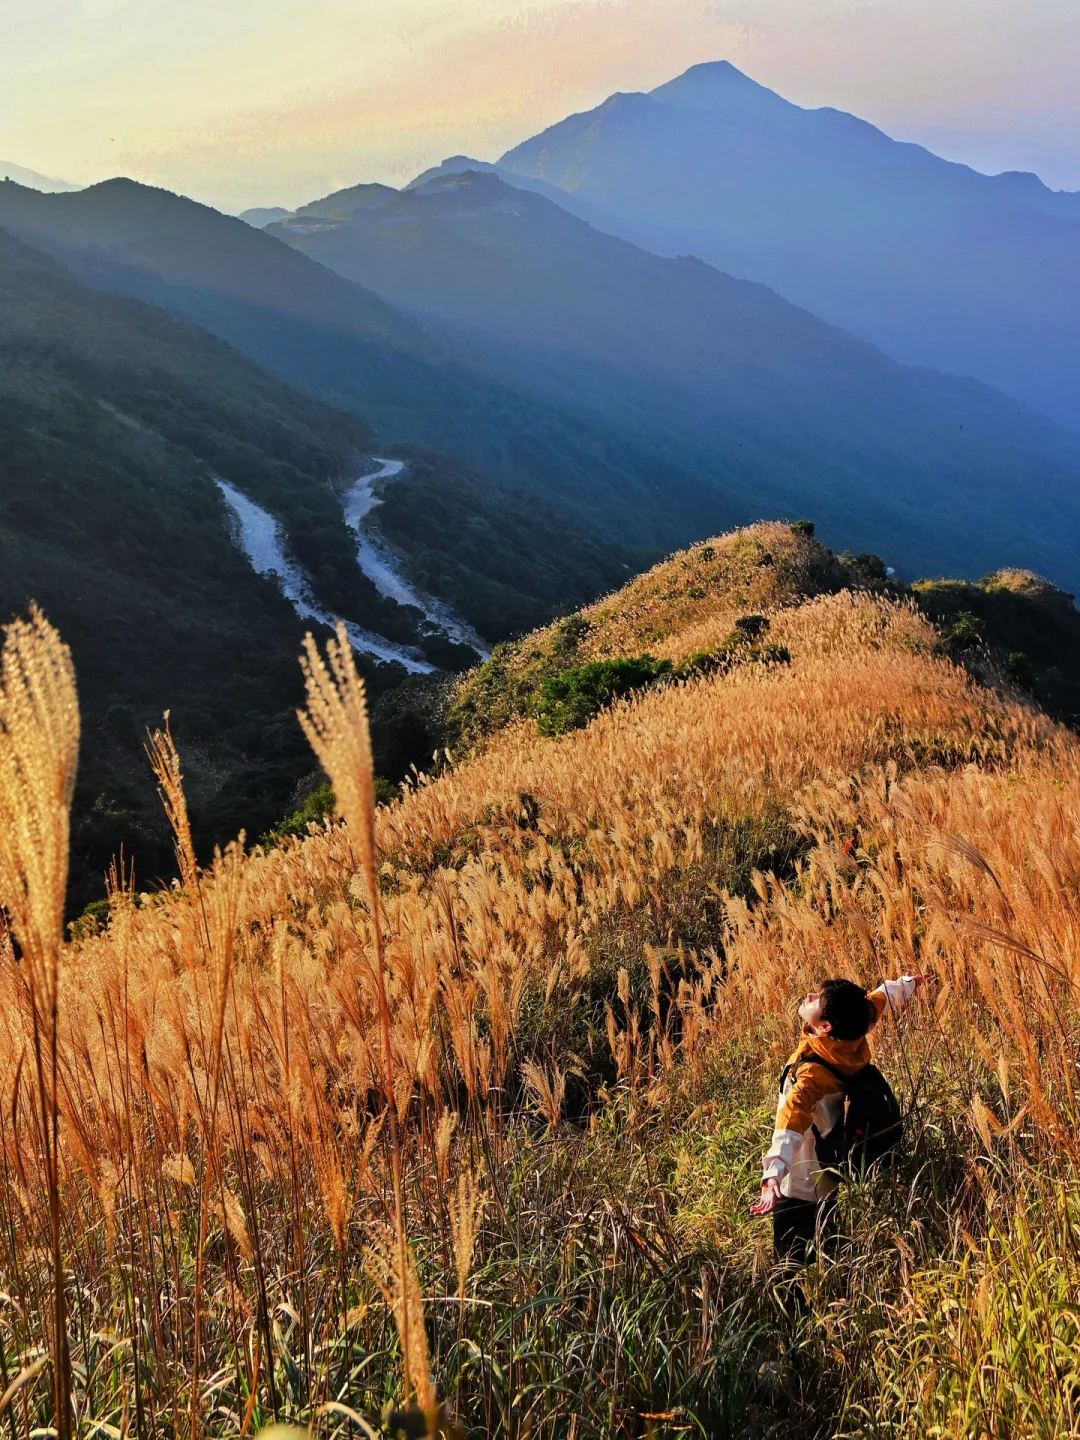
M 1080 196 L 982 176 L 727 62 L 612 95 L 500 166 L 609 228 L 773 285 L 900 360 L 1080 429 Z

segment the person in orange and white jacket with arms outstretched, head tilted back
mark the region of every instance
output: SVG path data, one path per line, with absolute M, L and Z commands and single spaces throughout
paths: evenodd
M 831 1230 L 840 1176 L 818 1158 L 818 1142 L 844 1116 L 844 1079 L 870 1064 L 867 1034 L 886 1011 L 899 1011 L 932 973 L 904 975 L 867 991 L 832 979 L 799 1005 L 802 1040 L 785 1066 L 776 1128 L 765 1156 L 753 1215 L 772 1215 L 773 1254 L 799 1269 Z M 818 1057 L 825 1064 L 814 1064 Z M 828 1067 L 828 1068 L 827 1068 Z

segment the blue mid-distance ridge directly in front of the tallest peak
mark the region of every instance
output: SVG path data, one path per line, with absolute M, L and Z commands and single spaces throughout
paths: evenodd
M 743 517 L 814 514 L 909 575 L 1028 556 L 1080 580 L 1079 438 L 763 285 L 651 255 L 490 171 L 359 186 L 274 233 L 708 474 Z

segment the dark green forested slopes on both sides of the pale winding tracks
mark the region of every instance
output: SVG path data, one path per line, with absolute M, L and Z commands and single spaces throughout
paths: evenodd
M 374 438 L 356 415 L 203 330 L 88 289 L 3 230 L 0 320 L 0 616 L 36 600 L 75 654 L 86 726 L 73 896 L 85 901 L 121 845 L 145 880 L 173 868 L 143 757 L 145 727 L 170 706 L 200 850 L 240 827 L 262 834 L 312 769 L 294 716 L 304 624 L 235 543 L 216 477 L 279 521 L 327 611 L 425 644 L 438 664 L 445 636 L 426 636 L 357 564 L 340 491 L 370 469 Z M 418 579 L 492 638 L 625 575 L 612 546 L 564 543 L 564 514 L 429 452 L 408 454 L 382 508 Z M 438 517 L 438 534 L 418 528 L 418 511 Z M 376 693 L 403 678 L 364 664 Z M 423 763 L 432 746 L 415 734 L 395 763 Z

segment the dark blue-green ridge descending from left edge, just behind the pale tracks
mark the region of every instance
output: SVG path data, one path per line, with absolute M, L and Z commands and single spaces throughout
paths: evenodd
M 0 225 L 48 246 L 89 284 L 171 310 L 357 410 L 384 438 L 458 455 L 495 481 L 567 504 L 616 540 L 670 546 L 734 517 L 707 478 L 508 384 L 240 219 L 111 180 L 62 196 L 0 183 Z

